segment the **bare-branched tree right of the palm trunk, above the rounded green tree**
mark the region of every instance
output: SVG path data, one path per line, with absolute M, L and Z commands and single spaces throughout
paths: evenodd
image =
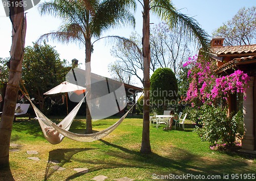
M 189 57 L 189 44 L 190 38 L 182 32 L 180 26 L 171 31 L 162 22 L 151 29 L 151 62 L 157 62 L 158 67 L 172 69 L 176 75 Z

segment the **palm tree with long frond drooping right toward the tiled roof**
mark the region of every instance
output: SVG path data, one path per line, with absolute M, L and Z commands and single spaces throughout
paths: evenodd
M 167 0 L 138 0 L 143 7 L 143 28 L 142 28 L 142 51 L 143 51 L 143 84 L 144 84 L 144 104 L 143 104 L 143 130 L 142 130 L 142 153 L 150 153 L 150 11 L 159 16 L 171 28 L 180 25 L 184 33 L 188 33 L 191 38 L 201 44 L 207 50 L 208 35 L 199 27 L 195 19 L 190 18 L 175 9 L 173 4 Z M 131 3 L 134 3 L 131 0 Z

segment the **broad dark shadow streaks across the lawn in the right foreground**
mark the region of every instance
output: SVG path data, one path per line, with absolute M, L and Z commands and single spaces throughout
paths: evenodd
M 101 169 L 114 169 L 114 168 L 146 168 L 148 171 L 152 171 L 148 178 L 152 179 L 153 174 L 156 175 L 182 175 L 187 176 L 198 176 L 198 175 L 219 175 L 223 178 L 223 174 L 233 174 L 233 173 L 254 173 L 255 168 L 253 166 L 249 167 L 250 163 L 247 161 L 241 162 L 237 160 L 236 157 L 230 157 L 227 161 L 225 159 L 209 159 L 208 157 L 201 157 L 190 153 L 187 150 L 175 148 L 175 153 L 177 155 L 172 155 L 170 152 L 166 157 L 161 156 L 156 153 L 143 154 L 139 151 L 130 150 L 104 140 L 99 140 L 107 146 L 116 148 L 120 151 L 109 150 L 106 154 L 118 158 L 121 162 L 110 161 L 101 161 L 101 160 L 79 160 L 79 162 L 84 162 L 87 164 L 96 164 L 100 166 L 95 166 L 90 168 L 87 172 L 75 173 L 66 180 L 71 180 L 77 177 L 80 177 L 88 172 L 94 172 Z M 83 150 L 81 150 L 83 151 Z M 127 153 L 127 154 L 126 154 Z M 130 160 L 130 161 L 129 161 Z M 78 161 L 78 160 L 76 160 Z M 124 161 L 124 162 L 122 162 Z M 166 180 L 169 179 L 166 178 Z M 189 180 L 189 178 L 188 178 Z

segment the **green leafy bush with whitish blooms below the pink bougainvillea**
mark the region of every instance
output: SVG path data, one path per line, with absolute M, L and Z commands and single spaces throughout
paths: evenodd
M 243 114 L 239 111 L 236 115 L 227 117 L 227 110 L 209 105 L 202 107 L 200 124 L 195 131 L 200 135 L 202 141 L 208 141 L 212 145 L 228 144 L 236 142 L 236 137 L 243 135 Z

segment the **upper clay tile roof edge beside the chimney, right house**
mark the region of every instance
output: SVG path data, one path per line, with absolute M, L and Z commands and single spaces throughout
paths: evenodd
M 227 54 L 256 53 L 256 44 L 249 44 L 245 46 L 212 47 L 211 52 L 216 56 Z

